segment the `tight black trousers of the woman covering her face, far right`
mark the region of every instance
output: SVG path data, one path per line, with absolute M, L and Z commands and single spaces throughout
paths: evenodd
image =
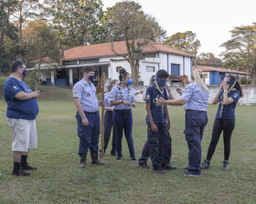
M 216 118 L 212 128 L 211 141 L 208 147 L 208 161 L 212 158 L 215 148 L 219 142 L 219 137 L 223 131 L 224 142 L 224 160 L 229 160 L 230 140 L 233 129 L 235 128 L 235 119 L 219 119 Z

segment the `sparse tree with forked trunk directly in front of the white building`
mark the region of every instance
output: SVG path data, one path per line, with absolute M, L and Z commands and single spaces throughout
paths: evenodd
M 117 56 L 123 56 L 132 68 L 134 85 L 139 80 L 139 60 L 143 55 L 143 49 L 152 41 L 161 42 L 165 37 L 165 31 L 158 25 L 155 18 L 145 15 L 142 6 L 133 1 L 116 3 L 108 9 L 103 21 L 107 23 L 111 41 L 124 40 L 127 54 L 120 55 L 112 43 L 112 51 Z

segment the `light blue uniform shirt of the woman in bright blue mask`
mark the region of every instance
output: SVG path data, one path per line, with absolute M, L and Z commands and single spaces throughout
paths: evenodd
M 121 99 L 126 100 L 129 103 L 133 103 L 136 101 L 133 93 L 133 87 L 122 87 L 122 85 L 119 85 L 119 86 L 121 87 L 123 98 L 121 96 L 120 88 L 118 86 L 115 86 L 115 87 L 112 87 L 110 101 L 116 101 Z M 124 104 L 122 103 L 114 106 L 113 108 L 118 110 L 123 110 L 123 109 L 130 109 L 131 107 L 125 107 Z

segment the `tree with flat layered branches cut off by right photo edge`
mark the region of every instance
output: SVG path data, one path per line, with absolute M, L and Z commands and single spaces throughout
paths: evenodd
M 230 31 L 231 39 L 221 46 L 224 66 L 251 73 L 251 82 L 256 83 L 256 23 L 252 26 L 238 26 Z

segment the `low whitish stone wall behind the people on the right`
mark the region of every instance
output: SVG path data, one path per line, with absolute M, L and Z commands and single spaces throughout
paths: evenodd
M 176 86 L 177 87 L 177 86 Z M 178 98 L 179 95 L 176 93 L 176 87 L 171 87 L 171 91 L 175 98 Z M 181 88 L 184 88 L 183 86 L 180 86 Z M 147 87 L 139 86 L 139 87 L 133 87 L 134 92 L 138 92 L 140 90 L 146 90 Z M 212 102 L 213 97 L 218 93 L 219 87 L 208 87 L 209 88 L 209 103 Z M 243 91 L 243 97 L 240 97 L 240 100 L 238 102 L 239 105 L 245 105 L 245 106 L 251 106 L 256 105 L 256 87 L 253 86 L 245 86 L 242 87 Z M 143 95 L 138 94 L 136 95 L 137 102 L 144 102 Z

